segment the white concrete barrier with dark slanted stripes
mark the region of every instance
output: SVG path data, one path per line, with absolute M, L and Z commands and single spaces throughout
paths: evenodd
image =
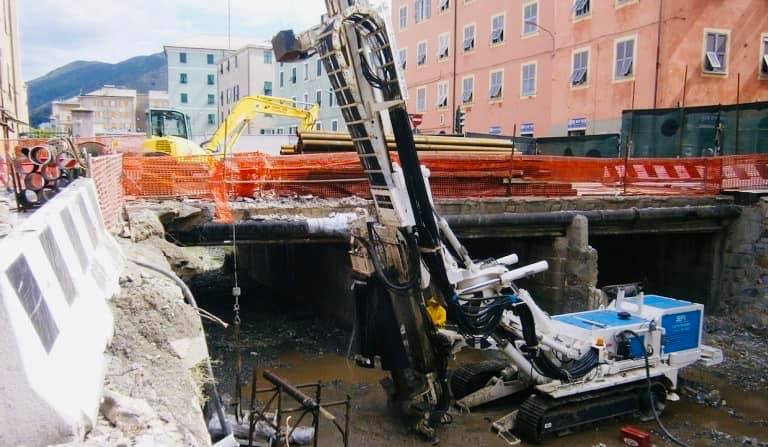
M 0 445 L 71 441 L 95 424 L 123 262 L 90 179 L 0 241 Z

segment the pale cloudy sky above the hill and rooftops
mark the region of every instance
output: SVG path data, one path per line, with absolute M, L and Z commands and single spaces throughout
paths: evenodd
M 232 36 L 271 39 L 320 22 L 323 0 L 230 0 Z M 75 60 L 120 62 L 200 35 L 227 35 L 227 0 L 20 0 L 22 74 Z

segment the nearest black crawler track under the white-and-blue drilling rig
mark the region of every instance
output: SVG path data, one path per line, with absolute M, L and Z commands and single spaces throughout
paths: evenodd
M 654 385 L 656 385 L 656 383 L 661 382 L 654 381 Z M 555 399 L 548 395 L 536 393 L 526 399 L 520 406 L 517 418 L 515 419 L 515 433 L 528 441 L 541 443 L 556 436 L 558 432 L 578 431 L 579 429 L 600 420 L 611 419 L 634 411 L 640 411 L 641 396 L 646 390 L 646 382 L 645 380 L 641 380 L 606 390 L 590 391 L 561 399 Z M 619 402 L 626 399 L 627 393 L 637 393 L 637 406 L 632 411 L 623 411 L 618 414 L 612 413 L 600 419 L 592 418 L 579 421 L 576 424 L 562 427 L 559 430 L 553 430 L 551 432 L 547 432 L 542 427 L 545 417 L 554 416 L 560 412 L 575 413 L 583 411 L 588 409 L 591 404 L 605 405 L 609 404 L 611 400 Z

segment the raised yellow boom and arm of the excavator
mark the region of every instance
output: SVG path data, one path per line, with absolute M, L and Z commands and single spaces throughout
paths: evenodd
M 246 96 L 235 105 L 226 120 L 213 134 L 205 149 L 212 153 L 231 152 L 248 123 L 258 115 L 277 115 L 296 118 L 299 131 L 312 130 L 317 122 L 320 107 L 313 104 L 308 110 L 296 107 L 294 101 L 274 96 Z

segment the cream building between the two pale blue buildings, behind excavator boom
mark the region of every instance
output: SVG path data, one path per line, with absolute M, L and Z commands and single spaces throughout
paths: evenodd
M 272 44 L 269 42 L 246 45 L 218 61 L 218 116 L 221 122 L 240 99 L 274 94 L 274 67 Z M 246 133 L 263 134 L 272 127 L 272 119 L 260 115 L 251 120 Z

